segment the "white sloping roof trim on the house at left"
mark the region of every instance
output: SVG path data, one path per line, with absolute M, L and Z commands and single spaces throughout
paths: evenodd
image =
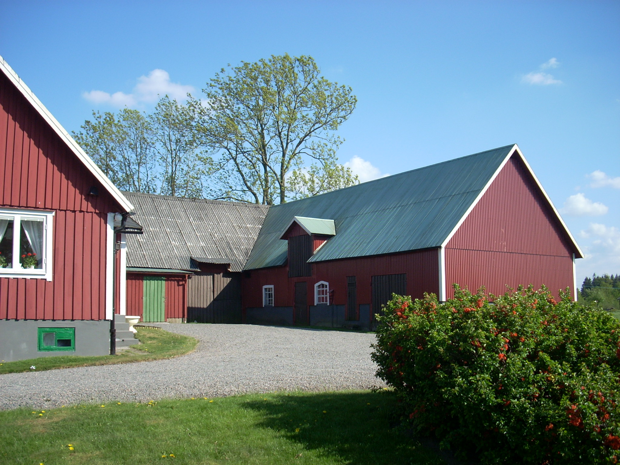
M 92 161 L 91 157 L 89 157 L 82 148 L 78 145 L 76 141 L 73 140 L 69 133 L 61 126 L 61 124 L 56 120 L 55 117 L 50 113 L 50 111 L 45 108 L 45 105 L 41 103 L 37 96 L 33 94 L 28 86 L 22 81 L 17 73 L 13 71 L 11 66 L 0 56 L 0 69 L 2 72 L 9 78 L 9 80 L 17 87 L 17 89 L 24 95 L 24 97 L 30 102 L 35 110 L 43 117 L 43 119 L 50 125 L 50 127 L 60 136 L 60 138 L 67 144 L 69 149 L 73 151 L 73 153 L 78 157 L 79 161 L 86 166 L 86 168 L 94 175 L 94 177 L 105 187 L 105 189 L 112 195 L 114 200 L 116 200 L 120 206 L 125 211 L 133 210 L 133 205 L 131 205 L 130 201 L 128 201 L 125 196 L 117 189 L 117 187 L 112 184 L 112 181 L 108 179 L 108 177 L 99 169 L 99 167 Z

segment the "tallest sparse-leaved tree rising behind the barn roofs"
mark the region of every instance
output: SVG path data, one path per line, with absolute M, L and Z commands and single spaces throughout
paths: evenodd
M 342 139 L 334 134 L 356 97 L 322 77 L 310 56 L 230 66 L 203 92 L 206 99 L 190 106 L 201 138 L 219 156 L 216 197 L 273 205 L 356 182 L 337 166 Z

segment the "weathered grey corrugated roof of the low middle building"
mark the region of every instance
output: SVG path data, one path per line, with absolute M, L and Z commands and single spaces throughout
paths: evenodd
M 127 266 L 198 271 L 191 257 L 217 257 L 240 272 L 268 207 L 124 192 L 143 235 L 127 236 Z

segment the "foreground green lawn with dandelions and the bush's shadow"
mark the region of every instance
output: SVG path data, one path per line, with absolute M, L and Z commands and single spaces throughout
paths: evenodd
M 389 428 L 394 404 L 389 391 L 347 391 L 7 410 L 0 463 L 443 463 Z

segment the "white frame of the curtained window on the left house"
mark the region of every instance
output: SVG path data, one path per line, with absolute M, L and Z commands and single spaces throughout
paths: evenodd
M 51 281 L 53 252 L 53 216 L 55 211 L 0 208 L 0 218 L 13 221 L 13 262 L 11 267 L 0 268 L 0 278 L 39 278 Z M 19 264 L 19 237 L 22 219 L 43 220 L 42 267 L 25 269 Z M 17 265 L 17 267 L 13 267 Z

